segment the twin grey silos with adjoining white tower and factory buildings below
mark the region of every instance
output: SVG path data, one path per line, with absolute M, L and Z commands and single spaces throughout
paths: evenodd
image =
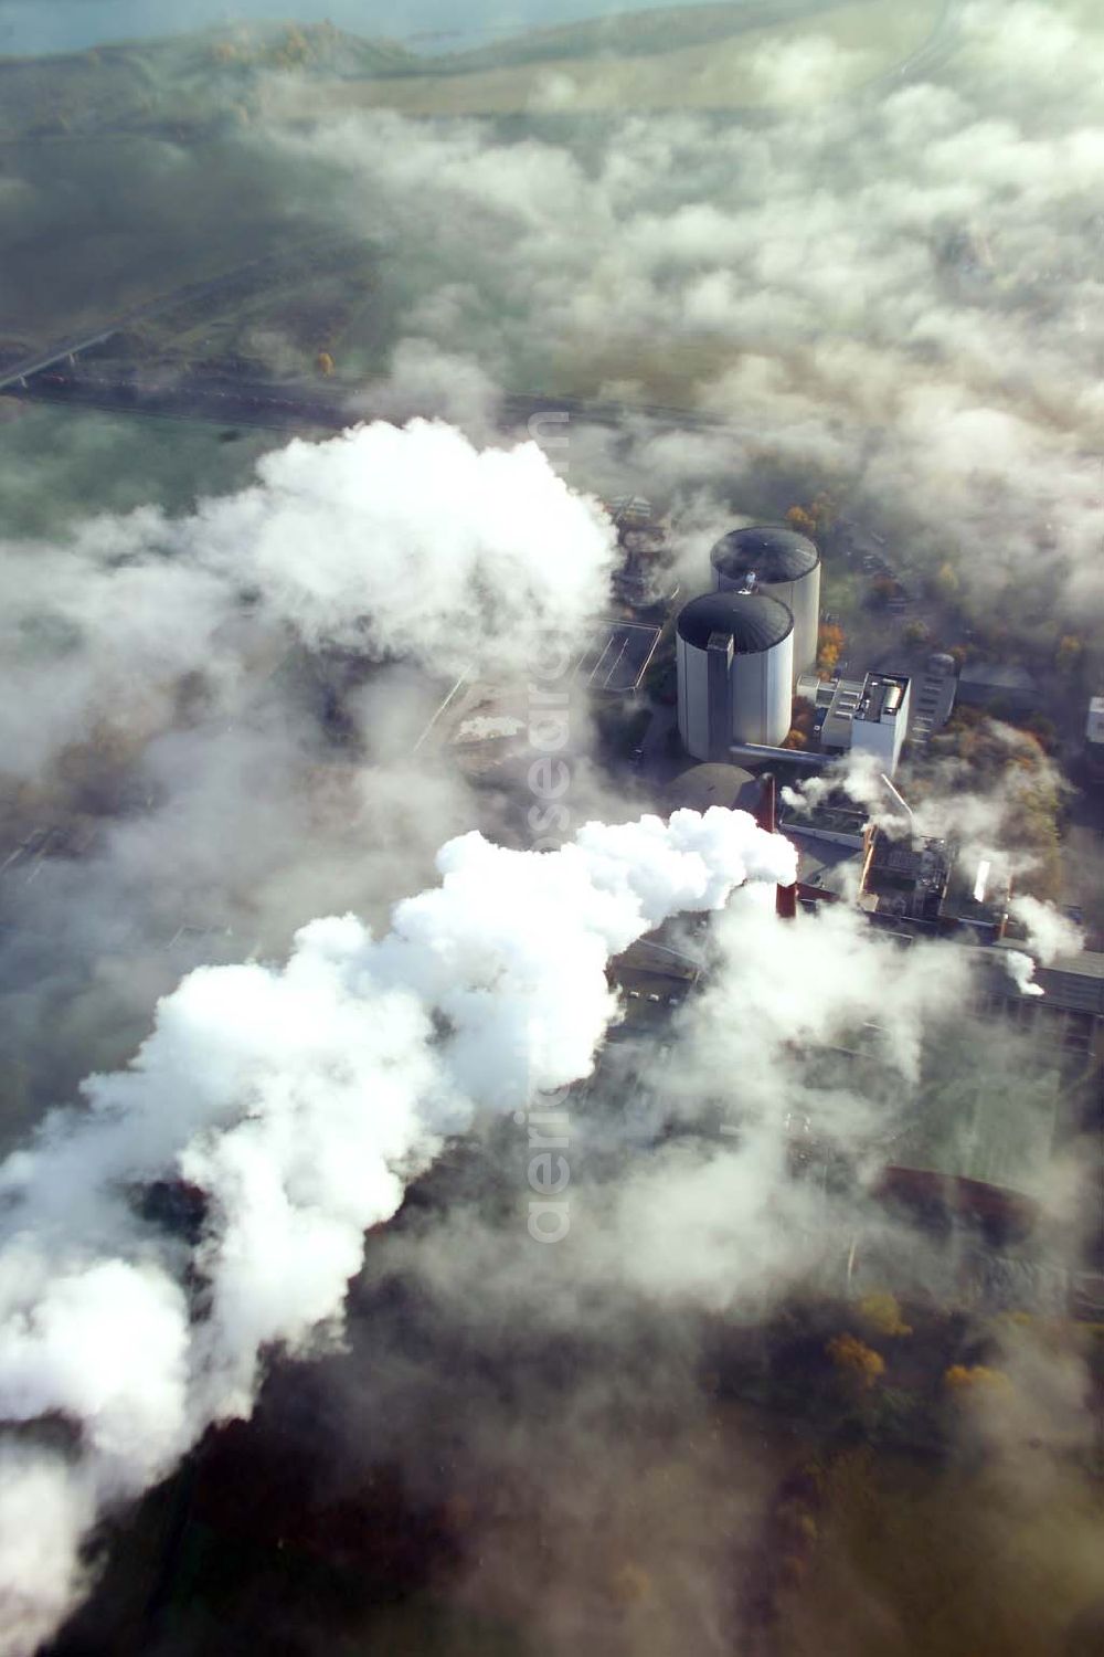
M 821 678 L 821 557 L 788 527 L 732 530 L 713 547 L 710 570 L 712 590 L 684 605 L 675 623 L 679 734 L 700 764 L 672 784 L 670 807 L 756 812 L 765 771 L 823 771 L 854 754 L 882 779 L 886 804 L 892 799 L 907 814 L 892 777 L 905 737 L 922 746 L 947 722 L 952 658 L 932 656 L 915 683 L 874 669 Z M 781 825 L 799 853 L 799 900 L 846 895 L 902 935 L 1003 938 L 1010 883 L 1001 870 L 945 840 L 890 835 L 839 790 L 816 802 L 790 790 L 783 799 Z

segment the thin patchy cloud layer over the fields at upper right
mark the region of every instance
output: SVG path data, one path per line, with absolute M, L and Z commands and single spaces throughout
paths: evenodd
M 1023 0 L 838 103 L 816 33 L 760 48 L 756 126 L 626 116 L 586 144 L 392 113 L 278 134 L 402 249 L 401 328 L 511 389 L 626 388 L 730 423 L 707 479 L 763 454 L 874 510 L 912 562 L 1099 615 L 1094 181 L 1104 36 Z M 273 136 L 265 134 L 265 143 Z M 695 452 L 700 462 L 702 449 Z

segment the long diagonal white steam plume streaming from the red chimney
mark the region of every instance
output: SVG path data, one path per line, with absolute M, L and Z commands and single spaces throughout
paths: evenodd
M 0 1167 L 0 1417 L 74 1430 L 68 1453 L 25 1433 L 0 1453 L 3 1657 L 79 1597 L 96 1514 L 248 1413 L 266 1347 L 339 1324 L 364 1229 L 442 1135 L 591 1070 L 611 956 L 745 880 L 791 882 L 794 853 L 712 809 L 589 824 L 548 855 L 468 833 L 439 868 L 381 940 L 318 920 L 283 969 L 192 973 L 131 1067 L 84 1084 L 88 1112 Z M 127 1198 L 174 1171 L 207 1198 L 194 1249 Z

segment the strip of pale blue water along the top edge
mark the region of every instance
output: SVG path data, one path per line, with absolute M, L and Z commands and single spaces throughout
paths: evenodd
M 520 28 L 644 12 L 679 0 L 0 0 L 0 53 L 36 56 L 149 40 L 235 22 L 328 18 L 356 35 L 389 35 L 425 51 L 480 45 Z

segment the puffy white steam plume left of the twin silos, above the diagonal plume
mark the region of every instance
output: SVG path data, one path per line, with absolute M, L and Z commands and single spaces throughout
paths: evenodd
M 510 673 L 607 600 L 612 525 L 535 442 L 480 451 L 439 421 L 381 421 L 257 471 L 189 517 L 146 507 L 65 550 L 5 548 L 3 771 L 33 775 L 98 719 L 154 727 L 184 674 L 225 688 L 286 630 L 439 674 Z

